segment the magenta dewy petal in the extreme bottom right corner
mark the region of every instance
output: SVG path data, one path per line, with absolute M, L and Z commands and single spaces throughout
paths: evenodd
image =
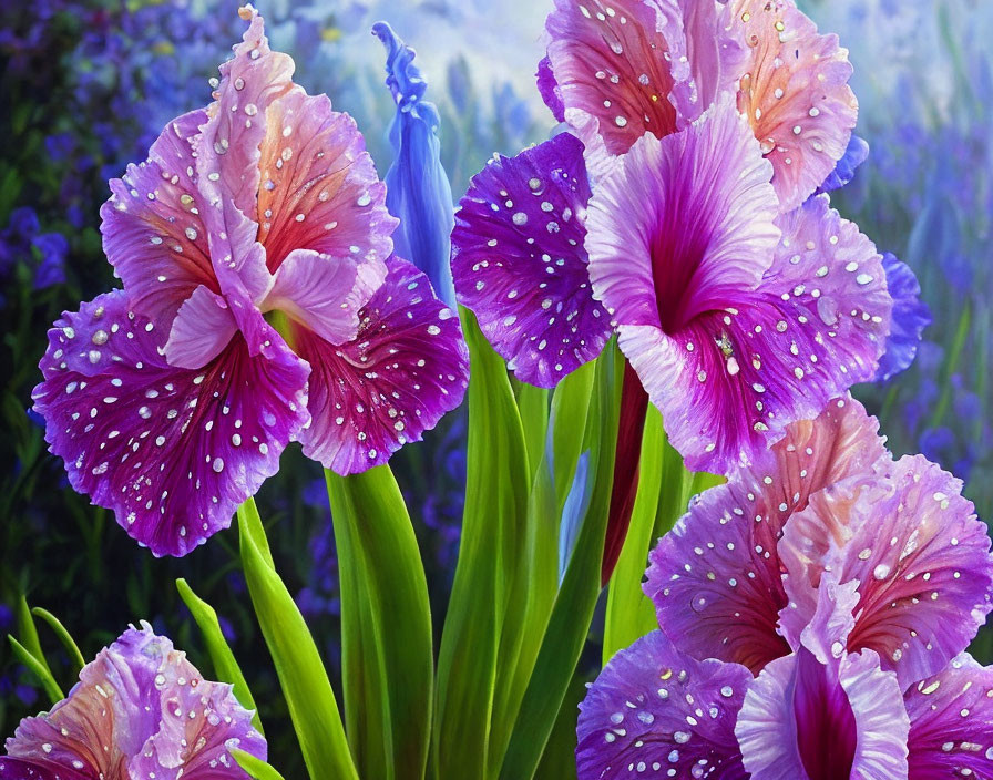
M 904 695 L 910 780 L 993 777 L 991 690 L 993 669 L 968 653 L 911 686 Z

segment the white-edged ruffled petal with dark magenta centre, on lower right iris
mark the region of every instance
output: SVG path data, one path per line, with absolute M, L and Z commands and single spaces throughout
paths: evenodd
M 907 777 L 909 722 L 897 679 L 872 650 L 844 653 L 857 598 L 853 583 L 823 588 L 798 651 L 769 664 L 748 689 L 735 733 L 751 780 Z

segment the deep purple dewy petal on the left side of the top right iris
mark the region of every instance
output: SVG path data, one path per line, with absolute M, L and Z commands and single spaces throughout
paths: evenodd
M 496 157 L 461 201 L 455 292 L 521 381 L 554 387 L 610 338 L 586 270 L 588 199 L 583 144 L 563 133 Z

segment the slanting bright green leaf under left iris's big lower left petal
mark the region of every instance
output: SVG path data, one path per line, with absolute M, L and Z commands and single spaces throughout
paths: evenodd
M 304 616 L 276 574 L 249 499 L 238 509 L 242 566 L 310 780 L 358 780 L 335 691 Z

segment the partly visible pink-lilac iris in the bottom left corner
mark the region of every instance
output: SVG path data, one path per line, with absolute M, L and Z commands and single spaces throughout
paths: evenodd
M 265 760 L 252 714 L 143 624 L 101 650 L 51 711 L 21 721 L 0 778 L 247 780 L 232 748 Z

